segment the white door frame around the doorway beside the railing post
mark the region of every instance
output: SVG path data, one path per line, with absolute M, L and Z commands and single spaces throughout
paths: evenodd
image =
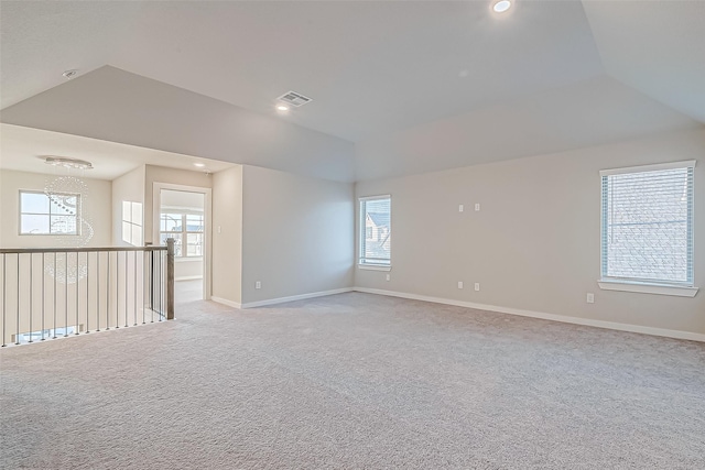
M 205 247 L 203 250 L 203 299 L 210 299 L 210 262 L 213 244 L 213 230 L 212 230 L 212 188 L 200 186 L 186 186 L 172 183 L 159 183 L 152 184 L 152 240 L 154 243 L 159 241 L 159 228 L 160 228 L 160 215 L 162 214 L 162 189 L 180 190 L 184 193 L 198 193 L 205 196 L 204 200 L 204 215 L 206 223 L 204 227 L 204 240 Z

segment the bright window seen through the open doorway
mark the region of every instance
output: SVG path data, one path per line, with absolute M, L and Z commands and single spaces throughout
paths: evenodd
M 162 212 L 160 243 L 174 239 L 174 256 L 203 255 L 204 218 L 202 212 Z

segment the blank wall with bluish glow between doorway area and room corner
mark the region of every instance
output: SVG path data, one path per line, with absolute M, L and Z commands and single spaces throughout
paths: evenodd
M 354 186 L 242 171 L 242 304 L 351 287 Z

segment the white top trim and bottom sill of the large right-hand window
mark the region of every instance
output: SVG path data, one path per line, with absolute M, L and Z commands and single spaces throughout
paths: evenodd
M 661 170 L 674 170 L 683 167 L 695 167 L 696 160 L 684 160 L 680 162 L 657 163 L 652 165 L 628 166 L 611 170 L 600 170 L 603 176 L 621 175 L 627 173 L 657 172 Z M 600 215 L 601 217 L 601 215 Z M 600 233 L 601 237 L 601 233 Z M 601 249 L 600 249 L 601 250 Z M 600 253 L 601 256 L 601 253 Z M 673 285 L 663 283 L 639 282 L 630 280 L 603 277 L 597 281 L 597 285 L 603 291 L 634 292 L 642 294 L 672 295 L 676 297 L 695 297 L 698 287 L 690 285 Z

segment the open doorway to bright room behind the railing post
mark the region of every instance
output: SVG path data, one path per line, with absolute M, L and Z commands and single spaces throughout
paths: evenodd
M 154 239 L 174 239 L 176 303 L 209 298 L 210 189 L 155 184 L 154 207 Z

